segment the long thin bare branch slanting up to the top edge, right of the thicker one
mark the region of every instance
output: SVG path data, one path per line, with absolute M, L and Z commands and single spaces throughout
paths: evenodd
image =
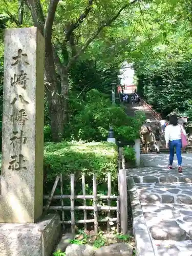
M 126 4 L 123 7 L 121 7 L 121 9 L 117 12 L 117 14 L 115 16 L 113 16 L 111 19 L 109 19 L 107 22 L 103 22 L 103 24 L 97 29 L 97 31 L 95 32 L 94 35 L 92 35 L 86 42 L 86 44 L 84 44 L 84 46 L 79 50 L 79 52 L 73 57 L 71 58 L 71 60 L 69 61 L 68 65 L 67 65 L 67 69 L 69 69 L 69 67 L 71 66 L 71 64 L 79 57 L 79 55 L 84 52 L 84 50 L 87 49 L 87 47 L 91 44 L 91 42 L 98 36 L 98 34 L 101 32 L 101 30 L 104 27 L 108 27 L 110 26 L 114 20 L 116 20 L 119 15 L 121 14 L 121 12 L 129 5 L 134 4 L 135 2 L 137 2 L 138 0 L 133 0 L 130 4 Z

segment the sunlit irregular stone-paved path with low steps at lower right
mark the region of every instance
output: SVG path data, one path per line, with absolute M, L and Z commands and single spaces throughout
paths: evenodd
M 152 241 L 148 255 L 192 256 L 192 168 L 134 168 L 127 178 L 135 232 L 146 226 Z

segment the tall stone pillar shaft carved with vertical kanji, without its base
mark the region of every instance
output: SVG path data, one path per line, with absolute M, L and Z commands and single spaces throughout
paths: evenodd
M 5 32 L 0 222 L 42 214 L 44 38 L 36 28 Z

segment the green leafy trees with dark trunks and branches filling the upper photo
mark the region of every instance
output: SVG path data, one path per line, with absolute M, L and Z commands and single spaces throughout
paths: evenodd
M 188 0 L 2 1 L 1 76 L 6 27 L 36 26 L 45 37 L 46 124 L 54 141 L 76 111 L 71 102 L 92 89 L 110 96 L 124 60 L 134 63 L 138 92 L 162 116 L 177 110 L 192 117 Z

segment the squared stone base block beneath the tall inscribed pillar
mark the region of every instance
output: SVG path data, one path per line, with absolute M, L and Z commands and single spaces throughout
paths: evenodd
M 37 223 L 0 224 L 1 256 L 51 256 L 61 233 L 59 215 Z

